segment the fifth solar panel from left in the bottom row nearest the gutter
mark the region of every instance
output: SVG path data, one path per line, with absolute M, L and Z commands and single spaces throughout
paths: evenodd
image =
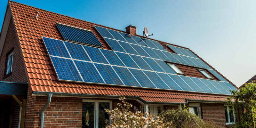
M 132 75 L 138 80 L 140 85 L 145 88 L 156 88 L 156 86 L 148 79 L 148 77 L 142 72 L 142 70 L 131 69 Z

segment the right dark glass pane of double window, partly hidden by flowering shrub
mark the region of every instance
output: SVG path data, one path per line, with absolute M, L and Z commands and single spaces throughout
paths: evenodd
M 105 108 L 109 109 L 109 103 L 99 102 L 99 128 L 105 128 L 106 120 L 109 121 L 109 115 L 105 112 Z

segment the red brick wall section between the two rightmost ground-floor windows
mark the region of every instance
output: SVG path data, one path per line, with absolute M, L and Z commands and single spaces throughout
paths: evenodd
M 220 128 L 227 127 L 223 104 L 201 103 L 201 112 L 204 120 L 211 120 Z

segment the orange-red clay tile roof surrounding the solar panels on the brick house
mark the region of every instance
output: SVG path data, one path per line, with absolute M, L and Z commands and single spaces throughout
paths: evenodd
M 104 41 L 104 39 L 94 28 L 93 25 L 97 24 L 45 11 L 28 5 L 19 4 L 12 1 L 9 1 L 9 5 L 11 8 L 12 18 L 14 20 L 17 35 L 20 41 L 21 50 L 24 56 L 26 70 L 28 72 L 28 82 L 32 91 L 139 96 L 145 101 L 152 102 L 183 103 L 185 102 L 186 99 L 215 101 L 226 100 L 226 95 L 141 89 L 96 84 L 79 84 L 58 81 L 56 73 L 51 64 L 50 58 L 47 55 L 45 46 L 42 43 L 42 36 L 62 40 L 62 37 L 58 32 L 58 29 L 56 28 L 56 22 L 63 23 L 78 28 L 92 30 L 93 34 L 99 39 L 100 43 L 104 46 L 104 49 L 110 50 L 108 44 Z M 39 20 L 34 19 L 36 11 L 40 12 L 38 16 Z M 166 44 L 161 41 L 158 42 L 162 45 Z M 169 52 L 172 52 L 172 50 L 169 48 L 167 50 Z

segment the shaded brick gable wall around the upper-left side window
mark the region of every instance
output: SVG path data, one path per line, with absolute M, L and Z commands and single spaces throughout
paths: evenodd
M 10 76 L 3 79 L 6 74 L 7 68 L 7 53 L 13 49 L 13 61 L 12 61 L 12 73 Z M 19 42 L 17 39 L 17 35 L 15 33 L 15 29 L 10 21 L 9 28 L 7 31 L 7 35 L 4 41 L 3 51 L 0 57 L 0 81 L 11 81 L 11 82 L 28 82 L 25 67 L 23 63 L 22 52 L 19 46 Z

